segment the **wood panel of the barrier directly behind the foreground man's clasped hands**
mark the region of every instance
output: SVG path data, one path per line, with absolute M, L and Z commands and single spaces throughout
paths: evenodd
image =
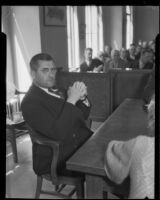
M 75 81 L 83 81 L 87 85 L 88 96 L 92 103 L 90 113 L 92 120 L 104 121 L 111 114 L 109 74 L 61 72 L 57 77 L 58 86 L 66 89 Z

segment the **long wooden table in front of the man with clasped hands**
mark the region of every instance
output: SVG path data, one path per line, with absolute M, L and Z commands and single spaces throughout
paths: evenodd
M 142 105 L 142 100 L 125 99 L 67 161 L 67 169 L 85 173 L 87 199 L 103 199 L 104 187 L 108 192 L 112 191 L 112 182 L 104 171 L 104 154 L 108 143 L 147 134 L 147 113 Z

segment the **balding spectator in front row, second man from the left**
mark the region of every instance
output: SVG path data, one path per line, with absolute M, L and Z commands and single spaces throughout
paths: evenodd
M 111 60 L 104 66 L 104 72 L 107 72 L 108 69 L 115 69 L 115 68 L 125 68 L 126 63 L 120 58 L 119 50 L 112 50 L 111 51 Z

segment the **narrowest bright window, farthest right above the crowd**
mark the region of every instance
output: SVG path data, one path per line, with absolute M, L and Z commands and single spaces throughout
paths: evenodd
M 126 48 L 133 43 L 133 7 L 125 6 L 126 9 Z

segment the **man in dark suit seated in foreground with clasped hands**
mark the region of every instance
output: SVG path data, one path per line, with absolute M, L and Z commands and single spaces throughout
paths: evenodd
M 33 83 L 21 104 L 23 117 L 39 135 L 62 142 L 61 158 L 65 163 L 92 135 L 85 123 L 90 112 L 86 86 L 75 82 L 68 91 L 56 88 L 57 68 L 48 54 L 35 55 L 30 68 Z M 36 174 L 50 173 L 49 148 L 34 144 L 33 157 Z

